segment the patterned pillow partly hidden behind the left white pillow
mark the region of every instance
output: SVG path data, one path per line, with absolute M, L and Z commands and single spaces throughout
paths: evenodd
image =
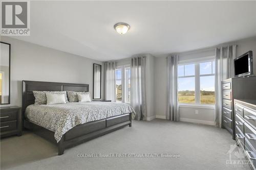
M 67 96 L 67 91 L 33 91 L 33 94 L 35 96 L 35 105 L 46 105 L 47 104 L 46 93 L 48 93 L 48 94 L 65 94 L 66 103 L 69 102 L 68 96 Z

